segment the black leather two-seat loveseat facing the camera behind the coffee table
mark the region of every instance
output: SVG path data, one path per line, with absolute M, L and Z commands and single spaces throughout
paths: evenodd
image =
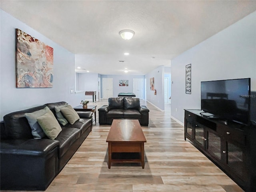
M 148 126 L 148 108 L 140 106 L 139 98 L 108 98 L 108 105 L 98 109 L 99 124 L 111 125 L 113 119 L 138 119 L 140 125 Z

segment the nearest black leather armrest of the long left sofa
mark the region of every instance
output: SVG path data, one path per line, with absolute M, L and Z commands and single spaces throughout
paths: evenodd
M 58 174 L 57 140 L 1 140 L 1 190 L 46 190 Z

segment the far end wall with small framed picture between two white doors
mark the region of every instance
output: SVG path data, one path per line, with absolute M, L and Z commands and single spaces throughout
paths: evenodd
M 113 78 L 113 97 L 118 97 L 118 93 L 132 93 L 133 92 L 133 79 L 142 78 L 144 85 L 144 75 L 101 75 L 102 78 Z M 128 86 L 119 86 L 119 80 L 128 80 Z M 102 84 L 102 82 L 101 82 Z M 102 92 L 102 91 L 101 91 Z M 143 88 L 144 98 L 144 88 Z

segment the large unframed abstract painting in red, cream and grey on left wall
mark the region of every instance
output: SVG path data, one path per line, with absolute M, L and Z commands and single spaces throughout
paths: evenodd
M 16 88 L 53 87 L 53 48 L 16 29 Z

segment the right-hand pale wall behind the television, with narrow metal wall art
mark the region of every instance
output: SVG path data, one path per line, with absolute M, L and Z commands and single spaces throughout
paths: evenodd
M 191 94 L 185 94 L 185 66 L 192 65 Z M 171 114 L 184 122 L 184 109 L 200 109 L 200 82 L 251 78 L 256 90 L 256 12 L 172 60 Z M 176 112 L 177 108 L 177 112 Z

